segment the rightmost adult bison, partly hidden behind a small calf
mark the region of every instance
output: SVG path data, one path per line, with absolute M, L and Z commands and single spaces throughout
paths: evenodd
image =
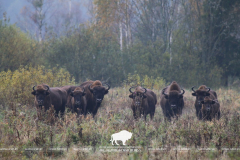
M 211 99 L 217 99 L 217 93 L 210 88 L 208 88 L 205 85 L 201 85 L 196 91 L 194 90 L 194 87 L 192 87 L 192 95 L 196 97 L 195 100 L 195 108 L 196 108 L 196 116 L 199 120 L 202 119 L 202 101 L 204 100 L 204 97 L 209 96 Z

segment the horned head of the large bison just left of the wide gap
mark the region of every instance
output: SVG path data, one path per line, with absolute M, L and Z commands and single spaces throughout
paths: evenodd
M 106 85 L 108 86 L 108 88 L 103 87 L 102 85 L 97 85 L 97 86 L 93 86 L 91 87 L 91 85 L 88 86 L 88 89 L 90 90 L 90 92 L 93 94 L 93 97 L 96 99 L 96 102 L 98 104 L 101 104 L 104 95 L 108 93 L 108 90 L 110 89 L 110 85 L 106 83 Z

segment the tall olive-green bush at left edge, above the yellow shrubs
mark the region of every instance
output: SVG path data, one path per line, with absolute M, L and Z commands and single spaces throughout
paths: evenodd
M 0 20 L 0 71 L 41 64 L 40 46 L 15 25 Z

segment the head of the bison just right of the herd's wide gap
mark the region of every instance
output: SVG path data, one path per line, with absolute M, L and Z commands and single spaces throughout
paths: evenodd
M 147 92 L 147 89 L 143 88 L 144 92 L 139 91 L 139 90 L 136 90 L 135 92 L 132 92 L 131 91 L 132 88 L 133 87 L 131 87 L 129 89 L 129 92 L 132 93 L 132 94 L 129 95 L 129 97 L 133 99 L 133 103 L 136 107 L 141 106 L 143 99 L 147 98 L 147 96 L 145 95 L 145 93 Z

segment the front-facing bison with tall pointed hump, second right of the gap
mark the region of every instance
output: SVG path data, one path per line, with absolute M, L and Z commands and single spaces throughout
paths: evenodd
M 181 92 L 181 90 L 183 92 Z M 177 82 L 172 82 L 169 86 L 162 90 L 160 96 L 160 105 L 162 107 L 163 115 L 169 121 L 171 117 L 177 117 L 182 114 L 184 107 L 183 94 L 185 91 L 180 88 Z

